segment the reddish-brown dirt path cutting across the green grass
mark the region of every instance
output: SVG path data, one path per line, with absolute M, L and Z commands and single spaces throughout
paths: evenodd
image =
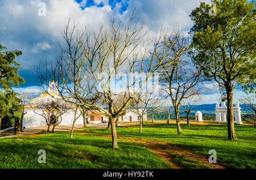
M 111 135 L 97 135 L 95 133 L 88 133 L 88 132 L 75 132 L 77 134 L 90 134 L 94 136 L 101 136 L 103 138 L 112 138 Z M 135 138 L 135 137 L 127 137 L 127 136 L 118 136 L 118 140 L 122 140 L 125 142 L 132 142 L 141 144 L 144 147 L 147 147 L 150 149 L 151 152 L 154 152 L 156 155 L 161 157 L 163 160 L 167 161 L 172 168 L 174 169 L 183 169 L 184 167 L 175 162 L 175 155 L 184 155 L 188 158 L 192 158 L 193 160 L 199 161 L 201 165 L 209 166 L 213 169 L 226 169 L 227 167 L 225 165 L 221 164 L 211 164 L 208 161 L 207 156 L 199 155 L 197 153 L 193 153 L 189 151 L 188 149 L 182 148 L 179 145 L 172 145 L 168 142 L 163 142 L 159 140 L 154 139 L 142 139 L 142 138 Z

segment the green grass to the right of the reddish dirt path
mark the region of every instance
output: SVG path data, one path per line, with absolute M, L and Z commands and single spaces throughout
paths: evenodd
M 209 123 L 209 122 L 208 122 Z M 238 140 L 228 140 L 226 123 L 209 125 L 181 125 L 181 136 L 177 135 L 176 125 L 144 125 L 139 127 L 118 127 L 119 136 L 156 139 L 180 145 L 192 152 L 210 156 L 210 149 L 217 152 L 217 162 L 229 168 L 256 168 L 256 128 L 253 125 L 235 125 Z M 86 132 L 110 134 L 110 131 L 90 129 Z

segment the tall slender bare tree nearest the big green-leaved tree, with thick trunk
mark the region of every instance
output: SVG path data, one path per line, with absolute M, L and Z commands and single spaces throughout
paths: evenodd
M 199 93 L 200 88 L 197 91 L 192 91 L 192 88 L 203 82 L 204 79 L 201 78 L 201 70 L 199 68 L 181 59 L 188 50 L 188 38 L 177 34 L 171 36 L 169 41 L 170 45 L 174 44 L 174 42 L 176 43 L 172 46 L 172 53 L 175 55 L 176 61 L 170 67 L 164 67 L 169 71 L 164 73 L 161 82 L 163 91 L 167 93 L 167 96 L 171 97 L 176 117 L 177 134 L 181 135 L 180 104 L 184 98 L 189 98 Z

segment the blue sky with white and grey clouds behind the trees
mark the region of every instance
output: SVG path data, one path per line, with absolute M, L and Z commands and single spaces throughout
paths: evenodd
M 61 31 L 68 19 L 77 23 L 97 27 L 113 17 L 126 17 L 138 5 L 138 15 L 147 20 L 147 28 L 154 33 L 160 27 L 170 29 L 178 26 L 188 32 L 192 27 L 189 14 L 210 0 L 1 0 L 0 1 L 0 44 L 8 50 L 21 50 L 23 55 L 19 75 L 26 81 L 17 92 L 39 93 L 36 67 L 40 60 L 51 61 L 59 55 Z M 45 5 L 45 10 L 44 10 Z M 44 14 L 44 12 L 46 12 Z M 124 18 L 125 19 L 125 18 Z M 203 100 L 197 104 L 214 104 L 220 101 L 216 83 L 205 83 L 207 89 Z M 245 93 L 241 87 L 234 92 L 234 101 Z

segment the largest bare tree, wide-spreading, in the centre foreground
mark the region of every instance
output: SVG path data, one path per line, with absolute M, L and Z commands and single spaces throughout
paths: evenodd
M 64 30 L 61 55 L 51 70 L 39 68 L 40 80 L 52 77 L 59 82 L 60 95 L 72 97 L 90 112 L 105 115 L 112 127 L 112 148 L 117 148 L 115 119 L 126 113 L 131 100 L 144 85 L 171 66 L 171 33 L 161 31 L 157 37 L 147 35 L 144 23 L 136 20 L 135 10 L 128 21 L 112 20 L 110 26 L 94 30 L 70 24 Z M 43 67 L 48 67 L 44 65 Z M 54 67 L 54 68 L 52 68 Z M 56 67 L 56 68 L 55 68 Z M 40 70 L 48 71 L 40 72 Z M 140 76 L 138 77 L 137 74 Z M 85 78 L 84 78 L 85 77 Z M 114 104 L 115 80 L 122 85 L 118 106 Z

